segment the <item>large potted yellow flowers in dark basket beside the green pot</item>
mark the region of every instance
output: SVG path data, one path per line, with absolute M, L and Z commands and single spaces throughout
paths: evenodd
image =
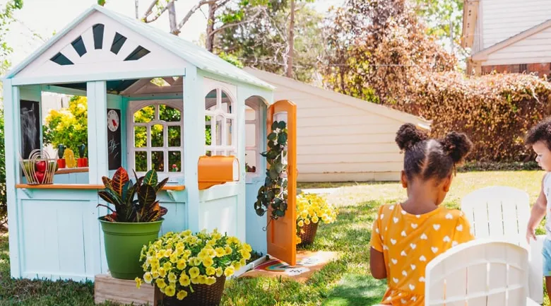
M 145 273 L 136 278 L 136 286 L 159 288 L 163 305 L 218 306 L 226 277 L 245 266 L 251 251 L 247 243 L 218 230 L 166 233 L 143 246 L 140 262 Z

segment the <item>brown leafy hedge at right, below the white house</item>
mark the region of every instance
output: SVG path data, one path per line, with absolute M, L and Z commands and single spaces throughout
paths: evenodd
M 526 162 L 526 131 L 550 114 L 551 83 L 510 73 L 468 78 L 463 73 L 426 73 L 413 78 L 410 99 L 396 107 L 432 120 L 433 136 L 463 131 L 475 147 L 469 160 Z

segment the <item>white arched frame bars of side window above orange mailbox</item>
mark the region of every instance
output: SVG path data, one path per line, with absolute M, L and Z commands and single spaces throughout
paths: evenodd
M 213 103 L 210 103 L 210 104 L 206 104 L 205 105 L 205 116 L 210 116 L 211 117 L 211 121 L 210 122 L 207 122 L 205 121 L 205 126 L 206 124 L 211 124 L 211 145 L 205 145 L 205 154 L 207 151 L 211 151 L 211 155 L 225 155 L 225 156 L 229 156 L 229 155 L 233 155 L 237 158 L 237 153 L 239 152 L 239 146 L 237 145 L 237 131 L 239 131 L 239 126 L 238 126 L 238 122 L 237 122 L 237 114 L 236 114 L 236 111 L 237 111 L 237 105 L 235 104 L 235 98 L 232 97 L 232 94 L 230 93 L 229 90 L 226 90 L 225 88 L 222 88 L 220 86 L 216 86 L 215 88 L 212 88 L 211 90 L 208 90 L 207 94 L 205 95 L 205 98 L 206 96 L 208 95 L 208 93 L 211 93 L 211 91 L 213 90 L 216 90 L 216 102 L 215 104 Z M 225 95 L 227 96 L 227 99 L 230 100 L 230 102 L 228 103 L 228 107 L 231 107 L 231 111 L 232 113 L 229 113 L 229 112 L 225 112 L 223 109 L 222 109 L 222 93 L 225 93 Z M 209 108 L 215 106 L 215 109 L 214 110 L 208 110 Z M 221 131 L 221 135 L 227 135 L 227 125 L 226 125 L 226 122 L 227 122 L 227 119 L 230 119 L 231 122 L 232 122 L 232 143 L 230 145 L 227 144 L 227 137 L 222 137 L 222 139 L 220 139 L 220 145 L 213 145 L 212 143 L 217 143 L 218 141 L 216 141 L 217 139 L 217 133 L 215 132 L 216 131 L 216 118 L 218 116 L 221 116 L 223 117 L 223 123 L 222 124 L 222 131 Z M 205 129 L 205 132 L 206 132 L 206 129 Z M 221 153 L 221 154 L 220 154 Z

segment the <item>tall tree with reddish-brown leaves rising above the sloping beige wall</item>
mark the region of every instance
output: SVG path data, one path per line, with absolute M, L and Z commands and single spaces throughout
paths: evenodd
M 414 78 L 456 67 L 454 55 L 427 35 L 406 0 L 348 0 L 328 20 L 324 36 L 327 86 L 364 100 L 407 103 Z

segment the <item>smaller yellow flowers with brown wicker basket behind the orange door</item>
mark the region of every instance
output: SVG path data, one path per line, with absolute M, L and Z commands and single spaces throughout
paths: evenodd
M 317 194 L 297 195 L 297 245 L 314 242 L 319 222 L 333 223 L 337 209 Z

